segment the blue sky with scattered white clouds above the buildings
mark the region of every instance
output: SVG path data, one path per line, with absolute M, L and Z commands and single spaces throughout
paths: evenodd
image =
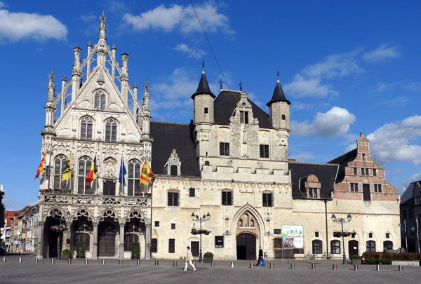
M 65 4 L 64 4 L 65 3 Z M 370 140 L 387 180 L 421 180 L 419 1 L 0 1 L 0 184 L 6 210 L 38 200 L 48 74 L 71 77 L 73 49 L 128 53 L 133 85 L 151 85 L 152 119 L 189 123 L 201 62 L 213 93 L 242 88 L 268 111 L 276 72 L 290 105 L 289 156 L 326 163 Z M 119 60 L 121 62 L 121 60 Z

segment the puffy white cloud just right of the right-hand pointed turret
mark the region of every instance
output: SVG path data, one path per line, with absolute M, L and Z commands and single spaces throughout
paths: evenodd
M 291 121 L 291 135 L 331 138 L 346 134 L 354 121 L 354 114 L 350 114 L 347 109 L 332 107 L 324 113 L 317 112 L 312 123 Z

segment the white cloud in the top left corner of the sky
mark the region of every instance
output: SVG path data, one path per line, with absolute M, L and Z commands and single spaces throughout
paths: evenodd
M 11 13 L 0 10 L 0 39 L 8 39 L 11 42 L 25 38 L 44 41 L 66 39 L 66 36 L 67 27 L 52 15 Z

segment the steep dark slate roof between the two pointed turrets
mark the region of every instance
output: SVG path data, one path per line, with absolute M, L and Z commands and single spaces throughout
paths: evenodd
M 236 103 L 241 99 L 239 91 L 222 90 L 221 93 L 213 101 L 213 113 L 215 124 L 229 125 L 229 118 L 233 114 Z M 251 104 L 253 116 L 259 120 L 260 128 L 272 128 L 272 123 L 269 121 L 269 115 L 260 109 L 257 104 L 247 99 Z

